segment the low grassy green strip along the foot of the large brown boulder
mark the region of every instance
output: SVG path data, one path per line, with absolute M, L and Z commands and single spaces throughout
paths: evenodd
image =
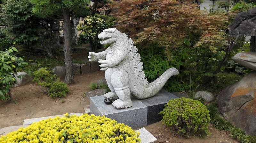
M 206 105 L 206 107 L 209 110 L 211 124 L 214 128 L 220 131 L 228 131 L 233 139 L 236 139 L 241 143 L 256 142 L 256 136 L 245 135 L 245 132 L 242 129 L 234 127 L 230 122 L 221 118 L 219 116 L 218 105 L 216 103 Z

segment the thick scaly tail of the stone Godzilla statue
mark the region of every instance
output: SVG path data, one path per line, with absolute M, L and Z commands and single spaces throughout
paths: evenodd
M 154 82 L 149 83 L 146 86 L 137 86 L 133 92 L 133 96 L 138 99 L 145 99 L 156 95 L 160 91 L 167 80 L 173 76 L 178 75 L 179 71 L 176 68 L 167 69 L 160 77 L 158 77 Z M 138 92 L 136 92 L 138 91 Z

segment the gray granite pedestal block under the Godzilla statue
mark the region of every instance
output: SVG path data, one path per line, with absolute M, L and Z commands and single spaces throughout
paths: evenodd
M 178 97 L 162 89 L 155 96 L 147 99 L 139 100 L 131 96 L 132 107 L 116 109 L 112 104 L 105 104 L 102 95 L 90 97 L 90 110 L 91 114 L 104 115 L 136 129 L 161 121 L 161 115 L 158 113 L 164 109 L 164 105 L 169 100 L 175 98 Z

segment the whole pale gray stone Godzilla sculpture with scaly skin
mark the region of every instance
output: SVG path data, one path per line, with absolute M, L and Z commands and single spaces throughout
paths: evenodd
M 106 70 L 105 78 L 111 92 L 104 97 L 117 99 L 112 103 L 117 109 L 131 107 L 131 95 L 138 99 L 154 96 L 171 76 L 179 74 L 176 68 L 169 68 L 154 82 L 148 83 L 138 49 L 127 36 L 116 28 L 105 29 L 98 37 L 101 44 L 110 46 L 100 53 L 89 52 L 89 61 L 99 61 L 101 70 Z

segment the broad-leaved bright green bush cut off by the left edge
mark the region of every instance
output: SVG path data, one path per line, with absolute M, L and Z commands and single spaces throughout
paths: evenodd
M 19 69 L 28 65 L 23 61 L 23 57 L 16 57 L 13 51 L 18 52 L 13 46 L 6 51 L 0 51 L 0 100 L 10 99 L 9 89 L 17 82 L 14 74 L 17 75 Z

